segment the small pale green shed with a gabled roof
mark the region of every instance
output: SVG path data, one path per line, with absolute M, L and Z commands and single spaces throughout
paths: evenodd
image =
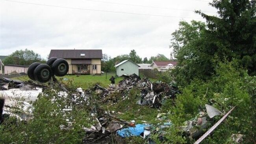
M 139 65 L 133 61 L 125 60 L 121 63 L 115 65 L 117 76 L 122 76 L 123 74 L 137 74 L 139 76 Z

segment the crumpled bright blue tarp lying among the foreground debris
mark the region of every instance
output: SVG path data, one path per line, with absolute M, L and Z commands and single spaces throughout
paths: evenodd
M 129 127 L 129 128 L 124 128 L 122 130 L 118 130 L 117 134 L 121 137 L 140 136 L 141 133 L 144 132 L 144 127 L 150 126 L 150 125 L 136 124 L 135 126 L 136 127 Z

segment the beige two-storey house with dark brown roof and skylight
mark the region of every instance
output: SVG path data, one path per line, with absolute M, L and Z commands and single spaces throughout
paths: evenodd
M 102 50 L 51 50 L 52 57 L 67 60 L 68 74 L 101 74 Z

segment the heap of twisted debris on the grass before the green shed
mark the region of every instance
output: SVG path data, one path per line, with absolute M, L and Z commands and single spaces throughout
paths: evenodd
M 176 94 L 180 94 L 180 91 L 176 86 L 168 85 L 162 82 L 152 83 L 148 78 L 141 79 L 136 74 L 127 76 L 123 75 L 124 79 L 119 82 L 118 85 L 109 85 L 109 88 L 103 88 L 99 85 L 95 85 L 90 90 L 86 90 L 87 97 L 95 94 L 102 97 L 102 101 L 117 103 L 119 99 L 125 100 L 129 98 L 128 91 L 134 86 L 141 90 L 141 99 L 137 101 L 139 105 L 150 105 L 153 108 L 159 108 L 166 99 L 174 99 Z M 112 95 L 118 92 L 117 97 Z

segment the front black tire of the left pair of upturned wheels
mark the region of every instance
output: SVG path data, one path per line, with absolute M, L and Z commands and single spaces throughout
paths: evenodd
M 49 65 L 41 64 L 37 66 L 34 70 L 35 80 L 39 81 L 40 83 L 46 83 L 52 77 L 52 69 Z

